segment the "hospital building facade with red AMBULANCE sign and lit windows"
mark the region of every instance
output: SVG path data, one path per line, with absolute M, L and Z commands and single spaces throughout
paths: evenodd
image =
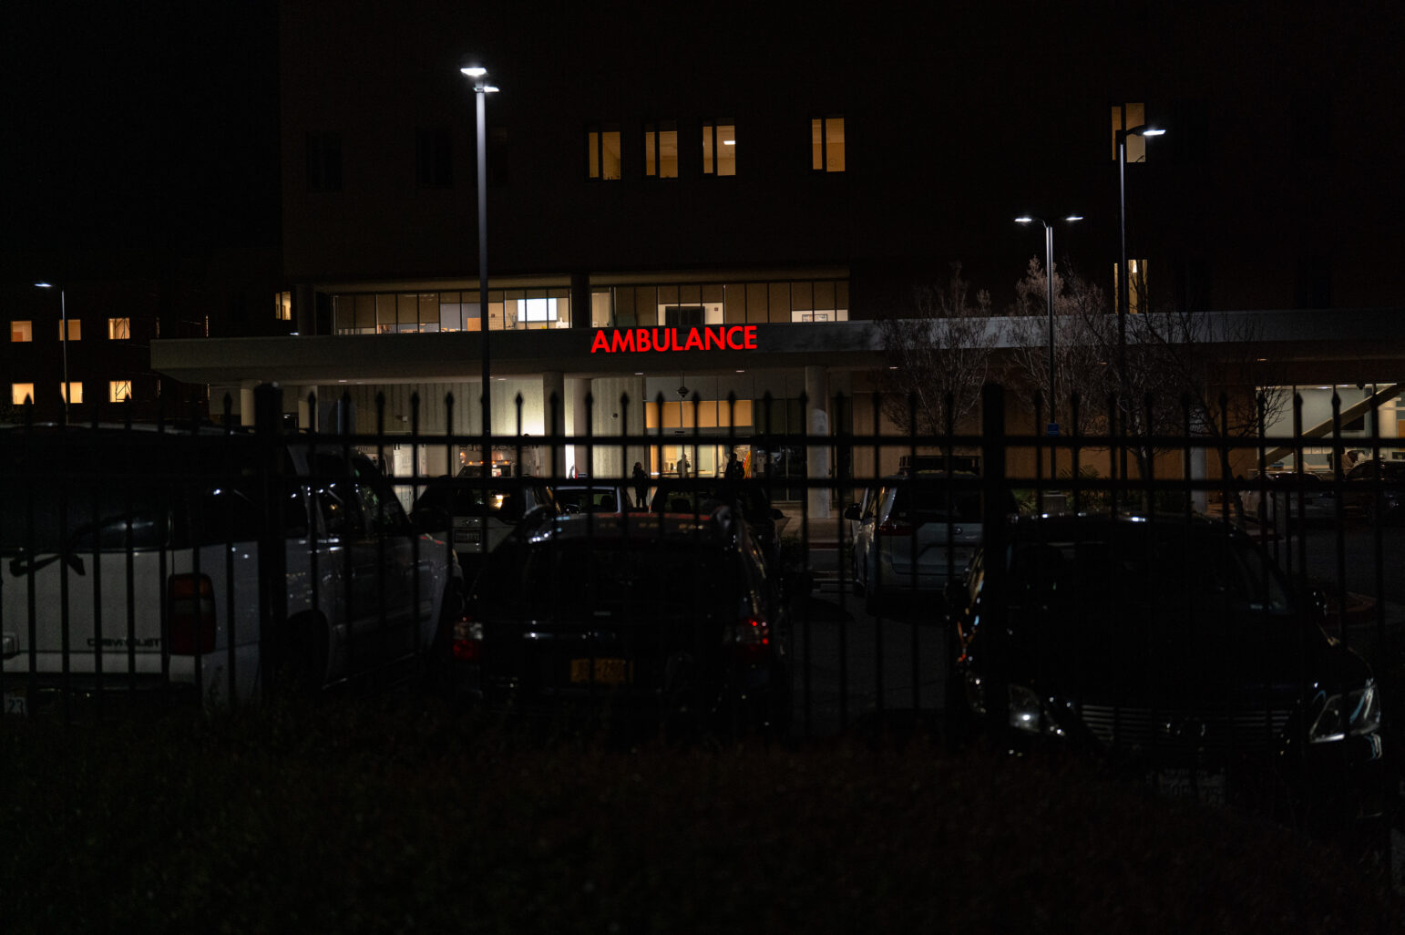
M 465 434 L 486 374 L 495 433 L 695 430 L 710 470 L 763 422 L 881 432 L 878 323 L 954 263 L 1007 312 L 1044 259 L 1030 214 L 1104 297 L 1125 259 L 1130 314 L 1262 314 L 1283 382 L 1401 378 L 1383 270 L 1405 193 L 1378 157 L 1405 136 L 1378 107 L 1405 79 L 1398 10 L 757 6 L 281 4 L 267 333 L 216 318 L 155 342 L 153 370 L 216 416 L 277 381 L 305 423 L 309 396 L 350 398 L 371 430 L 384 396 L 409 426 L 417 396 L 422 430 Z M 482 148 L 469 53 L 499 89 Z M 669 472 L 683 450 L 540 467 Z

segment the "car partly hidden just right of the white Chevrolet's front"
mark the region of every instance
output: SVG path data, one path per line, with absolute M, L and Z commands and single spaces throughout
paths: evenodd
M 561 512 L 551 488 L 541 478 L 475 475 L 465 468 L 458 477 L 438 477 L 414 499 L 410 515 L 416 522 L 447 519 L 454 550 L 465 576 L 472 581 L 488 553 L 497 547 L 524 519 Z M 440 522 L 444 522 L 441 519 Z

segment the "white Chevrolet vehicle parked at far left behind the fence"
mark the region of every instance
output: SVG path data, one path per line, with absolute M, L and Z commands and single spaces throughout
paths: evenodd
M 10 713 L 98 695 L 221 707 L 259 699 L 271 665 L 305 690 L 409 675 L 461 607 L 448 544 L 340 441 L 7 429 L 0 474 Z

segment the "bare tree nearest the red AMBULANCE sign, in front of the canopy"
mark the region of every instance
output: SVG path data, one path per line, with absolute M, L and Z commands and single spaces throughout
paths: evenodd
M 976 412 L 995 349 L 991 294 L 971 297 L 961 264 L 946 284 L 913 290 L 913 318 L 881 322 L 888 370 L 882 411 L 905 433 L 940 434 Z

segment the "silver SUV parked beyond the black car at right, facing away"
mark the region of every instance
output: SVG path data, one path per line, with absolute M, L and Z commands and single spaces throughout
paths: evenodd
M 903 471 L 849 505 L 854 592 L 870 613 L 899 595 L 940 595 L 965 569 L 981 544 L 978 482 L 962 471 Z M 1007 510 L 1014 509 L 1010 501 Z

